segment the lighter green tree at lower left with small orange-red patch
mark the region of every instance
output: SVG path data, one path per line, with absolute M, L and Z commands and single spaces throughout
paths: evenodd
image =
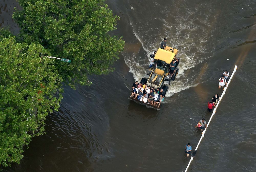
M 9 35 L 1 30 L 1 33 Z M 39 44 L 0 37 L 0 164 L 19 163 L 23 146 L 44 132 L 48 113 L 58 110 L 62 78 Z M 62 63 L 65 65 L 66 63 Z

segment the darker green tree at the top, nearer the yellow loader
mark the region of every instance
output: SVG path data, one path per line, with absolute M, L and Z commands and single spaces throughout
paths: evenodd
M 20 40 L 37 42 L 53 56 L 72 60 L 70 65 L 56 63 L 63 80 L 90 85 L 88 75 L 107 74 L 123 50 L 124 41 L 110 36 L 116 21 L 103 0 L 19 0 L 23 10 L 13 18 Z

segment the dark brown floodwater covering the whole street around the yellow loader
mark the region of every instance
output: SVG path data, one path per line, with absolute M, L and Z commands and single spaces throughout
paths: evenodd
M 47 133 L 33 138 L 19 165 L 3 171 L 185 171 L 184 147 L 189 142 L 194 150 L 201 137 L 194 126 L 208 122 L 207 102 L 222 93 L 221 73 L 237 65 L 188 171 L 255 172 L 256 1 L 106 3 L 120 16 L 111 34 L 126 42 L 116 70 L 91 76 L 91 87 L 65 87 L 59 111 L 47 117 Z M 0 3 L 1 27 L 11 25 L 14 33 L 15 6 L 15 0 Z M 165 37 L 179 50 L 180 71 L 156 111 L 128 97 Z

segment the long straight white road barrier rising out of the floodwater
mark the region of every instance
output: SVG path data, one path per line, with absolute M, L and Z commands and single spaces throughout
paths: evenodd
M 234 71 L 233 71 L 233 73 L 231 74 L 231 76 L 230 76 L 230 78 L 229 78 L 229 80 L 228 80 L 227 87 L 225 87 L 225 88 L 223 89 L 224 91 L 222 92 L 222 94 L 221 94 L 221 96 L 220 96 L 220 100 L 218 101 L 216 107 L 213 109 L 213 112 L 212 112 L 211 117 L 210 117 L 210 119 L 209 119 L 209 121 L 208 121 L 207 127 L 206 127 L 205 130 L 202 132 L 202 136 L 201 136 L 201 138 L 200 138 L 200 140 L 199 140 L 199 142 L 198 142 L 198 144 L 197 144 L 197 146 L 196 146 L 195 151 L 197 150 L 197 148 L 198 148 L 200 142 L 202 141 L 202 138 L 204 137 L 205 132 L 206 132 L 207 128 L 209 127 L 209 124 L 210 124 L 210 122 L 211 122 L 211 119 L 212 119 L 212 117 L 215 115 L 216 109 L 217 109 L 217 107 L 219 106 L 220 101 L 222 100 L 224 94 L 226 93 L 226 90 L 227 90 L 227 88 L 228 88 L 228 85 L 229 85 L 229 83 L 231 82 L 231 80 L 232 80 L 232 78 L 233 78 L 233 76 L 234 76 L 234 73 L 236 73 L 236 70 L 237 70 L 237 65 L 234 67 Z M 190 158 L 190 161 L 189 161 L 189 163 L 188 163 L 188 166 L 187 166 L 185 172 L 187 172 L 188 167 L 189 167 L 191 161 L 193 160 L 193 158 L 194 158 L 194 157 L 191 157 L 191 158 Z

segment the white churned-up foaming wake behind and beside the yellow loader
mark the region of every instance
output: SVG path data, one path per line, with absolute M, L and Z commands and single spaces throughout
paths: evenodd
M 189 12 L 189 14 L 192 13 L 194 12 Z M 177 57 L 180 58 L 178 66 L 179 74 L 176 76 L 176 80 L 170 83 L 166 96 L 172 96 L 174 93 L 178 93 L 190 87 L 195 87 L 198 84 L 194 82 L 195 77 L 189 76 L 185 71 L 195 67 L 198 63 L 201 63 L 206 58 L 210 57 L 210 52 L 208 51 L 211 51 L 213 47 L 209 49 L 209 47 L 206 47 L 205 45 L 208 41 L 208 35 L 212 31 L 209 30 L 209 26 L 211 26 L 211 24 L 207 23 L 207 20 L 204 19 L 203 22 L 206 23 L 206 27 L 198 28 L 199 26 L 194 24 L 191 19 L 181 16 L 177 20 L 183 22 L 178 25 L 174 25 L 165 19 L 156 18 L 154 20 L 161 20 L 164 22 L 162 27 L 164 28 L 167 41 L 169 42 L 167 45 L 171 44 L 171 46 L 179 50 L 177 55 Z M 140 81 L 146 73 L 146 69 L 149 65 L 150 53 L 159 48 L 163 36 L 158 33 L 157 29 L 161 26 L 152 26 L 152 28 L 150 28 L 148 26 L 150 26 L 151 23 L 141 24 L 141 26 L 138 26 L 138 23 L 133 24 L 131 19 L 130 25 L 133 28 L 135 37 L 140 41 L 142 48 L 145 51 L 145 55 L 141 57 L 137 55 L 137 52 L 134 52 L 132 55 L 131 53 L 123 52 L 123 56 L 125 57 L 124 59 L 127 66 L 130 68 L 129 71 L 134 75 L 134 79 Z M 174 31 L 176 33 L 174 33 Z M 199 31 L 201 33 L 200 35 L 197 34 Z M 154 34 L 152 34 L 152 32 Z M 152 42 L 152 39 L 161 41 Z

